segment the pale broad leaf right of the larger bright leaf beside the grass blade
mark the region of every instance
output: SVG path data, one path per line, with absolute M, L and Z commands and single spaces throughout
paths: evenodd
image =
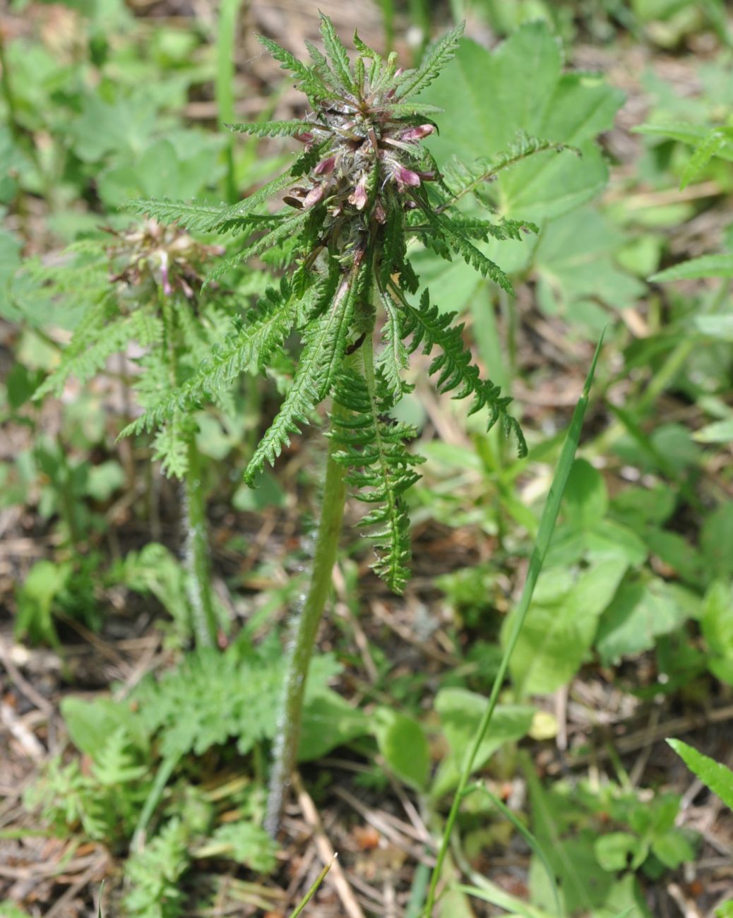
M 603 613 L 595 646 L 604 664 L 651 650 L 661 634 L 669 634 L 696 617 L 699 600 L 660 577 L 622 584 Z

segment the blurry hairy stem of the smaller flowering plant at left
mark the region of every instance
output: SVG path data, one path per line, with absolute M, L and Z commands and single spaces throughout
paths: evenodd
M 186 494 L 188 599 L 191 602 L 194 633 L 199 647 L 213 647 L 217 641 L 217 617 L 211 590 L 209 537 L 206 531 L 206 499 L 201 481 L 201 454 L 195 435 L 188 443 Z

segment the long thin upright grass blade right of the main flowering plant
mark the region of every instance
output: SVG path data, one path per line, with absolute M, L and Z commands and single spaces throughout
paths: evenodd
M 493 717 L 494 710 L 496 709 L 496 705 L 499 700 L 499 693 L 502 689 L 504 678 L 506 677 L 507 671 L 509 669 L 509 661 L 512 658 L 514 647 L 516 646 L 517 640 L 519 639 L 519 634 L 522 631 L 524 619 L 526 618 L 527 610 L 529 609 L 530 602 L 532 601 L 532 596 L 535 592 L 537 579 L 540 575 L 540 571 L 542 570 L 542 566 L 545 563 L 547 549 L 549 548 L 552 533 L 555 530 L 555 523 L 558 520 L 562 496 L 565 492 L 565 486 L 568 483 L 570 467 L 575 457 L 575 451 L 578 448 L 578 443 L 581 440 L 582 422 L 583 418 L 585 417 L 585 410 L 588 408 L 588 397 L 591 391 L 593 375 L 595 373 L 595 365 L 598 363 L 598 354 L 601 351 L 602 343 L 603 335 L 601 336 L 601 341 L 598 342 L 598 346 L 596 347 L 595 353 L 593 354 L 591 369 L 588 371 L 588 376 L 585 380 L 585 386 L 583 386 L 580 400 L 578 401 L 578 404 L 575 407 L 575 411 L 573 412 L 568 435 L 566 436 L 565 442 L 562 446 L 558 468 L 555 472 L 555 476 L 552 479 L 552 485 L 550 486 L 549 494 L 547 495 L 547 503 L 545 504 L 542 519 L 539 523 L 539 530 L 537 532 L 537 538 L 535 547 L 532 552 L 532 557 L 529 562 L 527 578 L 524 581 L 524 589 L 522 590 L 522 596 L 519 600 L 519 605 L 517 606 L 516 612 L 513 616 L 512 629 L 509 634 L 509 639 L 507 641 L 506 647 L 504 648 L 502 661 L 499 665 L 499 669 L 491 687 L 491 695 L 489 696 L 489 701 L 486 706 L 486 712 L 481 719 L 473 745 L 471 746 L 470 752 L 464 762 L 461 778 L 456 789 L 456 794 L 453 798 L 453 803 L 451 805 L 450 812 L 448 813 L 448 818 L 445 821 L 443 838 L 441 840 L 440 850 L 438 851 L 437 860 L 435 862 L 433 877 L 430 881 L 430 890 L 428 890 L 428 898 L 425 903 L 425 909 L 423 912 L 425 916 L 430 916 L 433 913 L 438 880 L 440 879 L 441 869 L 443 868 L 445 855 L 448 850 L 448 845 L 450 844 L 450 837 L 453 834 L 453 827 L 456 824 L 461 800 L 463 799 L 464 791 L 468 785 L 468 777 L 471 774 L 473 763 L 476 760 L 476 756 L 479 752 L 479 747 L 483 742 L 484 736 L 489 731 L 491 718 Z

